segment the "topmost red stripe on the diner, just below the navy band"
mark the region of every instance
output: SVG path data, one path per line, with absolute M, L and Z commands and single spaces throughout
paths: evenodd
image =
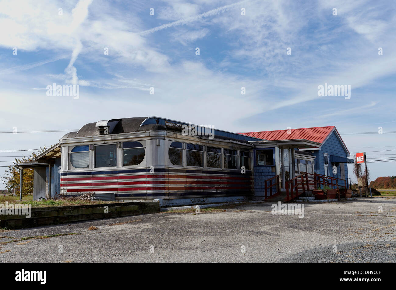
M 205 175 L 129 175 L 129 176 L 109 176 L 109 177 L 73 177 L 73 178 L 61 178 L 61 181 L 81 181 L 81 180 L 120 180 L 120 179 L 137 179 L 137 178 L 194 178 L 194 179 L 238 179 L 238 180 L 250 180 L 251 177 L 232 177 L 232 176 L 205 176 Z

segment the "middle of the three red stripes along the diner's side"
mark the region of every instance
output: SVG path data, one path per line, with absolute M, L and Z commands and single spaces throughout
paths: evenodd
M 222 184 L 249 184 L 249 181 L 225 181 Z M 61 184 L 61 187 L 67 186 L 107 186 L 107 185 L 133 185 L 133 184 L 219 184 L 217 181 L 179 181 L 179 180 L 145 180 L 129 182 L 91 182 L 91 183 L 67 183 Z

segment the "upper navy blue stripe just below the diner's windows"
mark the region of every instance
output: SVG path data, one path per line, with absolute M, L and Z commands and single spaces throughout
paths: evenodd
M 150 168 L 143 169 L 115 169 L 111 171 L 90 171 L 90 172 L 64 172 L 61 176 L 67 175 L 96 175 L 96 174 L 119 174 L 119 173 L 137 173 L 147 172 L 150 173 Z M 173 168 L 158 168 L 154 169 L 154 174 L 160 174 L 160 172 L 175 172 L 175 173 L 198 173 L 198 174 L 227 174 L 237 176 L 251 176 L 251 172 L 241 173 L 239 170 L 236 171 L 211 171 L 211 170 L 196 170 L 196 169 L 173 169 Z

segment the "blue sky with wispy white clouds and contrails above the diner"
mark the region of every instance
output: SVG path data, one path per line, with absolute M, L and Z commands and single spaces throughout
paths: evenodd
M 0 131 L 135 116 L 234 132 L 396 131 L 395 11 L 391 1 L 2 0 Z M 79 99 L 47 96 L 54 82 L 80 85 Z M 351 98 L 319 97 L 325 82 L 350 85 Z M 63 135 L 0 133 L 0 150 L 48 146 Z M 396 149 L 394 134 L 342 137 L 350 152 Z M 20 154 L 0 152 L 0 161 L 11 155 Z M 369 165 L 372 179 L 394 168 Z

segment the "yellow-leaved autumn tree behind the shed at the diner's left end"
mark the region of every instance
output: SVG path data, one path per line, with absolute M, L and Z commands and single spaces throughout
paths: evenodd
M 22 157 L 22 159 L 17 159 L 15 158 L 15 161 L 13 161 L 13 165 L 17 163 L 25 163 L 29 161 L 33 161 L 34 158 L 47 150 L 46 146 L 44 148 L 40 148 L 36 153 L 30 154 L 28 157 L 25 155 Z M 7 190 L 11 190 L 12 188 L 15 188 L 15 193 L 18 195 L 19 193 L 19 169 L 14 167 L 13 165 L 10 165 L 8 169 L 4 172 L 4 176 L 2 176 L 1 180 L 3 184 L 5 185 L 5 188 Z M 22 178 L 22 195 L 28 195 L 29 193 L 33 192 L 33 169 L 23 169 L 23 178 Z

